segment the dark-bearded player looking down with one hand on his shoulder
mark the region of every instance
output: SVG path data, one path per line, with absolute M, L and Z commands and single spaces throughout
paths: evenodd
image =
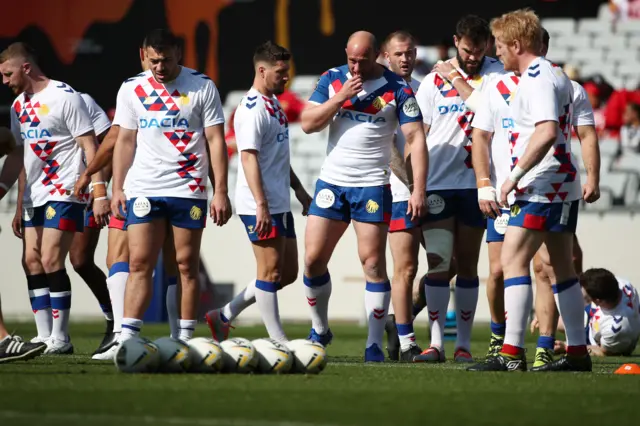
M 478 207 L 471 165 L 471 121 L 480 92 L 503 73 L 502 64 L 485 56 L 491 33 L 482 18 L 469 15 L 456 25 L 456 57 L 436 64 L 416 95 L 429 146 L 427 204 L 422 232 L 429 272 L 425 295 L 431 346 L 420 362 L 444 362 L 444 326 L 449 304 L 449 270 L 457 261 L 455 306 L 458 336 L 454 360 L 471 362 L 471 330 L 478 303 L 478 258 L 485 219 Z

